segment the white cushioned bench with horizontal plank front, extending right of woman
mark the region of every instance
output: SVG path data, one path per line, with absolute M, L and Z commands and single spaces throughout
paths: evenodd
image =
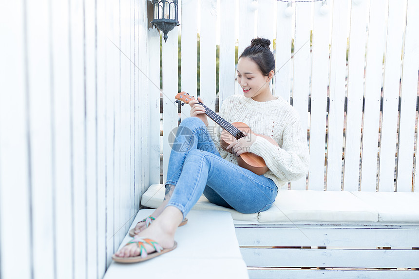
M 141 204 L 163 197 L 154 184 Z M 419 278 L 419 193 L 280 190 L 259 214 L 204 196 L 193 209 L 231 213 L 250 278 Z

